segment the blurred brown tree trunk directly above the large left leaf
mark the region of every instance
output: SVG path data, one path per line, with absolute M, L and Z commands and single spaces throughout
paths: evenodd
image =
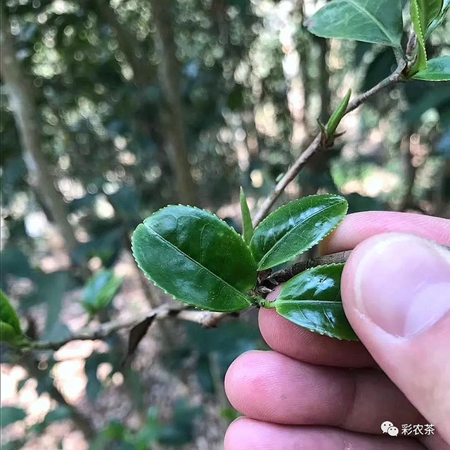
M 188 161 L 183 102 L 181 100 L 179 61 L 172 30 L 171 2 L 151 0 L 155 25 L 155 48 L 160 58 L 158 77 L 165 99 L 165 137 L 167 150 L 174 166 L 177 190 L 183 203 L 197 203 L 195 185 Z

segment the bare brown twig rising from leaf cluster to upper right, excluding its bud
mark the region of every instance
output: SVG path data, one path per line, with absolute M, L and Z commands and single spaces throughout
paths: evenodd
M 356 108 L 358 108 L 358 106 L 364 104 L 368 99 L 370 99 L 375 94 L 378 94 L 378 92 L 385 89 L 386 87 L 392 86 L 395 83 L 401 81 L 401 73 L 404 70 L 404 68 L 405 62 L 401 61 L 401 63 L 399 63 L 394 73 L 392 73 L 389 77 L 380 81 L 378 85 L 374 86 L 372 89 L 369 89 L 368 91 L 363 92 L 359 96 L 356 96 L 356 98 L 349 103 L 349 106 L 347 106 L 345 114 L 354 111 Z M 295 179 L 295 177 L 297 177 L 297 175 L 300 173 L 300 170 L 302 170 L 302 168 L 304 168 L 304 166 L 307 164 L 309 158 L 311 158 L 311 156 L 313 156 L 317 151 L 321 150 L 322 148 L 323 148 L 322 136 L 321 133 L 319 133 L 314 138 L 314 141 L 311 142 L 311 144 L 309 144 L 307 149 L 302 152 L 297 161 L 295 161 L 292 167 L 288 170 L 288 172 L 285 173 L 283 178 L 281 178 L 281 180 L 277 183 L 277 185 L 274 188 L 274 191 L 269 195 L 269 197 L 267 197 L 266 201 L 264 201 L 264 204 L 262 204 L 262 207 L 259 209 L 258 213 L 255 215 L 255 218 L 253 219 L 253 226 L 256 227 L 257 225 L 259 225 L 259 223 L 262 222 L 262 220 L 266 217 L 266 215 L 269 214 L 269 211 L 271 210 L 272 206 L 274 206 L 279 196 L 283 194 L 285 188 L 289 185 L 291 181 Z

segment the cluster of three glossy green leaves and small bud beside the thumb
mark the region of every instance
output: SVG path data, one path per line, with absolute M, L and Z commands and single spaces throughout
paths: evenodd
M 332 232 L 347 212 L 340 196 L 308 196 L 281 206 L 252 230 L 245 196 L 243 237 L 216 215 L 191 206 L 167 206 L 134 232 L 139 268 L 174 299 L 209 311 L 276 308 L 297 325 L 355 339 L 340 300 L 342 264 L 293 277 L 273 303 L 263 299 L 267 271 L 300 256 Z M 246 240 L 246 242 L 245 242 Z

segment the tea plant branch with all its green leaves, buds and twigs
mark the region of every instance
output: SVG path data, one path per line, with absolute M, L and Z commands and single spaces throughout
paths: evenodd
M 167 206 L 144 220 L 132 237 L 133 253 L 139 268 L 155 285 L 174 299 L 205 311 L 230 313 L 251 306 L 274 308 L 308 330 L 338 339 L 356 339 L 340 299 L 340 277 L 348 255 L 284 267 L 338 226 L 347 211 L 347 201 L 332 194 L 315 195 L 281 206 L 270 215 L 269 212 L 311 156 L 333 146 L 345 114 L 399 82 L 450 80 L 450 56 L 429 59 L 426 45 L 432 32 L 444 22 L 450 0 L 411 0 L 410 23 L 406 27 L 405 6 L 406 1 L 400 0 L 331 1 L 307 20 L 309 31 L 319 37 L 390 46 L 397 68 L 354 99 L 349 89 L 328 123 L 319 122 L 319 134 L 255 214 L 255 228 L 241 192 L 242 237 L 216 215 L 191 206 Z M 105 272 L 89 282 L 82 304 L 90 317 L 110 304 L 121 281 Z M 267 301 L 266 294 L 282 282 L 285 284 L 277 299 Z M 22 348 L 55 350 L 71 340 L 104 339 L 115 330 L 129 327 L 130 349 L 136 349 L 155 318 L 175 317 L 180 311 L 183 310 L 160 308 L 130 320 L 82 330 L 59 342 L 33 342 L 25 337 L 18 316 L 2 294 L 1 339 Z M 197 316 L 187 320 L 205 325 Z M 214 321 L 208 323 L 211 324 Z

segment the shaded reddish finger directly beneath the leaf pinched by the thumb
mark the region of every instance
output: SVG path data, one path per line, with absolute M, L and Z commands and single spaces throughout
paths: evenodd
M 271 349 L 299 361 L 335 367 L 376 367 L 361 342 L 340 341 L 305 330 L 273 309 L 259 310 L 259 329 Z

